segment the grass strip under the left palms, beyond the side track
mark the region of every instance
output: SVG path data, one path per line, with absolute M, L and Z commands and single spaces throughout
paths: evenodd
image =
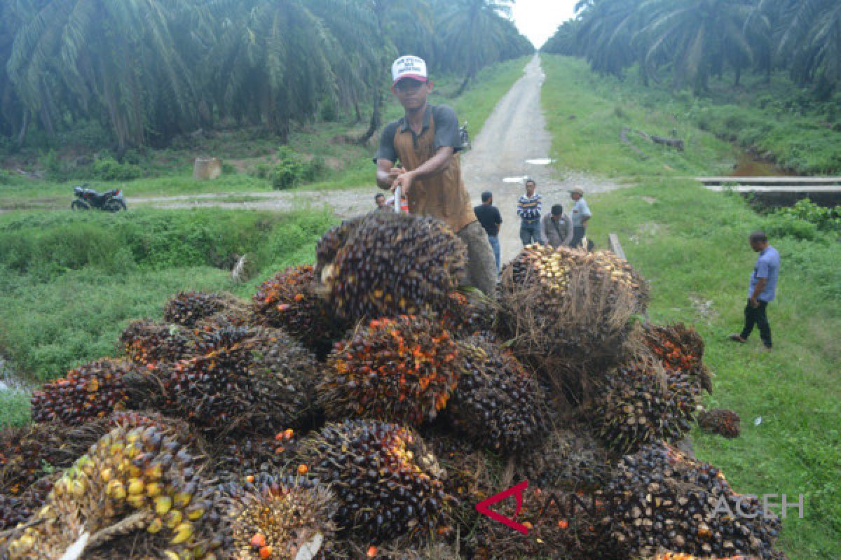
M 528 59 L 521 58 L 492 65 L 479 72 L 473 86 L 459 97 L 452 97 L 458 90 L 461 78 L 458 76 L 433 76 L 436 89 L 430 97 L 435 104 L 448 104 L 456 109 L 458 117 L 470 123 L 475 134 L 484 125 L 485 119 L 510 86 L 520 78 Z M 336 189 L 373 187 L 373 164 L 371 156 L 376 151 L 379 136 L 374 135 L 368 144 L 357 145 L 347 139 L 361 136 L 368 127 L 370 107 L 362 107 L 362 120 L 355 123 L 348 119 L 325 120 L 296 128 L 291 134 L 288 146 L 303 160 L 318 160 L 320 171 L 312 181 L 297 186 L 299 189 Z M 390 93 L 384 99 L 383 122 L 389 122 L 402 114 L 402 108 Z M 249 174 L 261 163 L 271 163 L 278 150 L 278 139 L 261 135 L 253 128 L 212 133 L 194 139 L 178 139 L 172 148 L 130 150 L 127 166 L 114 165 L 108 168 L 116 175 L 139 174 L 131 181 L 91 180 L 90 165 L 69 169 L 71 160 L 77 159 L 84 148 L 66 148 L 64 152 L 42 154 L 36 158 L 29 155 L 28 162 L 22 158 L 27 169 L 40 168 L 48 175 L 46 181 L 30 181 L 17 175 L 0 175 L 0 207 L 5 208 L 50 208 L 67 207 L 70 204 L 71 186 L 85 180 L 93 188 L 124 189 L 125 196 L 172 196 L 203 192 L 242 193 L 249 191 L 272 191 L 269 181 Z M 31 151 L 31 150 L 30 150 Z M 90 150 L 88 150 L 90 151 Z M 63 153 L 63 155 L 61 155 Z M 225 162 L 225 173 L 217 181 L 193 180 L 193 159 L 199 154 L 216 155 Z M 11 165 L 13 159 L 7 158 Z M 116 164 L 116 162 L 114 162 Z M 2 173 L 2 170 L 0 170 Z M 51 175 L 51 179 L 50 179 Z M 56 180 L 71 176 L 71 181 Z

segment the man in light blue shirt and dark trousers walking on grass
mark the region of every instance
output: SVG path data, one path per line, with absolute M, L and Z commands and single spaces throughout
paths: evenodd
M 759 327 L 759 338 L 766 350 L 774 348 L 771 341 L 771 326 L 765 309 L 777 293 L 777 277 L 780 275 L 780 254 L 768 244 L 768 237 L 762 232 L 748 236 L 750 248 L 759 253 L 754 271 L 750 275 L 748 305 L 744 306 L 744 327 L 741 333 L 729 336 L 735 343 L 746 343 L 754 325 Z

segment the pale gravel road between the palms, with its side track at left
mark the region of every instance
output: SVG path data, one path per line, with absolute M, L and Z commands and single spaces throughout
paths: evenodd
M 516 201 L 523 192 L 521 182 L 505 182 L 505 178 L 531 176 L 537 181 L 537 192 L 543 196 L 544 212 L 553 204 L 571 207 L 567 190 L 582 186 L 587 192 L 610 191 L 617 188 L 611 181 L 596 181 L 578 172 L 565 172 L 558 177 L 552 165 L 535 165 L 526 160 L 547 159 L 552 139 L 546 130 L 546 121 L 540 107 L 540 88 L 545 76 L 540 60 L 535 58 L 526 66 L 523 77 L 511 87 L 495 107 L 482 132 L 473 138 L 473 149 L 463 155 L 463 175 L 474 204 L 479 204 L 482 191 L 493 191 L 495 204 L 500 208 L 503 228 L 500 235 L 502 259 L 511 259 L 521 248 L 520 223 L 516 217 Z M 369 191 L 349 189 L 342 191 L 294 192 L 238 192 L 207 195 L 167 196 L 154 198 L 129 198 L 130 207 L 144 203 L 155 207 L 193 208 L 228 207 L 291 210 L 295 207 L 323 207 L 330 205 L 340 217 L 356 216 L 373 208 L 372 187 Z M 226 196 L 248 196 L 259 201 L 230 202 L 214 199 Z

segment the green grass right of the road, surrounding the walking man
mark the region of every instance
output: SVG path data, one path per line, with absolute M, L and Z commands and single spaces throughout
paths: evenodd
M 837 235 L 812 235 L 807 224 L 762 217 L 739 196 L 674 178 L 718 172 L 731 149 L 694 127 L 669 103 L 652 103 L 648 92 L 595 76 L 580 60 L 543 56 L 543 68 L 543 106 L 559 169 L 589 170 L 637 183 L 590 197 L 595 215 L 591 237 L 604 247 L 607 233 L 619 233 L 628 259 L 651 281 L 652 320 L 694 324 L 705 338 L 706 363 L 717 374 L 707 405 L 733 409 L 742 417 L 743 433 L 735 440 L 696 430 L 698 456 L 721 467 L 739 492 L 786 494 L 794 501 L 805 495 L 805 518 L 790 511 L 782 547 L 792 560 L 838 557 Z M 716 111 L 711 106 L 710 113 Z M 774 120 L 772 114 L 767 118 Z M 637 144 L 651 156 L 641 160 L 620 143 L 623 125 L 667 135 L 676 128 L 687 141 L 686 151 Z M 799 141 L 786 139 L 791 145 Z M 772 243 L 782 256 L 779 297 L 769 307 L 772 353 L 759 351 L 755 333 L 744 346 L 726 341 L 727 333 L 742 324 L 748 274 L 756 258 L 746 237 L 759 228 L 775 233 Z M 802 234 L 807 231 L 812 233 Z M 784 233 L 789 235 L 782 237 Z

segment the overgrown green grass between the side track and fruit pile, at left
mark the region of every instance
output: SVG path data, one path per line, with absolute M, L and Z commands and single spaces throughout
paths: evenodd
M 179 290 L 251 296 L 272 272 L 313 259 L 315 241 L 333 222 L 327 212 L 219 209 L 4 216 L 0 347 L 20 372 L 55 379 L 114 355 L 125 325 L 160 317 Z M 234 285 L 239 254 L 259 274 Z

